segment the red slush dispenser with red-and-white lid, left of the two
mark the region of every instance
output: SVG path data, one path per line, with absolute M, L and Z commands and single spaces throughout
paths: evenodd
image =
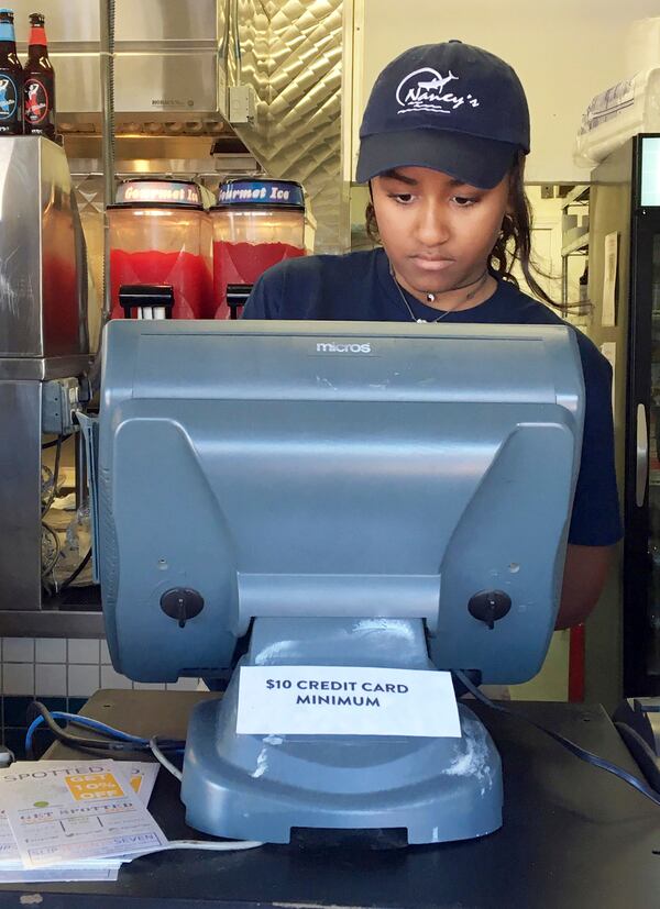
M 213 317 L 211 223 L 196 182 L 125 180 L 108 221 L 112 319 Z

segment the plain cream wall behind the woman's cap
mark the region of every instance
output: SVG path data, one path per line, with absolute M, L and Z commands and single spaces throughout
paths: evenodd
M 358 125 L 376 76 L 393 57 L 415 44 L 460 38 L 503 57 L 520 77 L 531 111 L 530 182 L 585 180 L 587 171 L 572 162 L 580 118 L 594 95 L 632 75 L 624 71 L 630 22 L 660 15 L 660 0 L 356 3 L 364 9 L 354 82 Z

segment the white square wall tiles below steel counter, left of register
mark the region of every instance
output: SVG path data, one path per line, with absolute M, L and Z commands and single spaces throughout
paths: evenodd
M 198 679 L 173 685 L 133 683 L 112 667 L 106 641 L 0 638 L 0 695 L 86 698 L 98 688 L 194 691 Z

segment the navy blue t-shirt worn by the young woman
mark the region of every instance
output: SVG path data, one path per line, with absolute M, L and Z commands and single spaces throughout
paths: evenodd
M 417 318 L 429 322 L 438 318 L 438 310 L 408 293 L 406 300 Z M 387 256 L 378 248 L 342 256 L 294 258 L 273 266 L 254 285 L 243 318 L 409 322 L 410 313 L 389 274 Z M 449 312 L 442 321 L 566 324 L 551 309 L 503 280 L 483 303 Z M 586 400 L 569 542 L 607 546 L 622 536 L 614 468 L 612 368 L 593 342 L 573 330 L 582 358 Z

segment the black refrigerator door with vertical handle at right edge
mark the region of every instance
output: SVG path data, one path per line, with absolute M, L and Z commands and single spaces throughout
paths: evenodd
M 624 568 L 626 696 L 660 695 L 660 212 L 631 235 Z

